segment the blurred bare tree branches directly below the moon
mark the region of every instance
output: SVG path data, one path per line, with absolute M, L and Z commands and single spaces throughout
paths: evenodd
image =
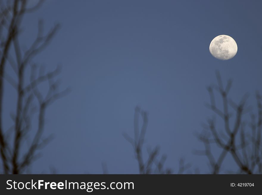
M 247 94 L 239 103 L 234 102 L 229 97 L 232 81 L 228 80 L 224 87 L 219 72 L 216 72 L 216 77 L 218 84 L 208 87 L 210 103 L 207 107 L 221 120 L 216 123 L 216 117 L 212 117 L 203 125 L 204 130 L 198 134 L 198 138 L 205 149 L 196 151 L 196 154 L 208 158 L 212 174 L 221 173 L 221 167 L 227 156 L 233 158 L 237 167 L 236 170 L 230 170 L 230 173 L 261 174 L 261 95 L 258 92 L 256 94 L 258 112 L 256 116 L 247 105 Z M 221 108 L 217 104 L 216 93 L 222 97 Z M 246 114 L 250 114 L 250 118 L 245 116 Z M 219 124 L 222 124 L 221 131 L 219 131 Z M 219 148 L 219 153 L 212 152 L 214 147 Z

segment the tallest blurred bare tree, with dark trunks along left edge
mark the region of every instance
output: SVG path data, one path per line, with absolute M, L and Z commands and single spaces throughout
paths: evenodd
M 34 57 L 49 45 L 59 29 L 58 24 L 43 34 L 43 22 L 40 20 L 35 40 L 27 46 L 28 49 L 21 49 L 23 16 L 36 11 L 42 3 L 40 0 L 29 7 L 27 0 L 0 1 L 0 150 L 5 174 L 23 173 L 38 156 L 39 149 L 49 142 L 51 137 L 42 137 L 46 108 L 67 93 L 67 90 L 60 91 L 58 88 L 59 67 L 45 73 L 43 67 L 33 62 Z M 5 70 L 6 66 L 12 67 L 12 74 Z M 29 82 L 26 82 L 28 77 Z M 11 114 L 13 124 L 9 129 L 3 129 L 4 81 L 17 93 L 13 103 L 16 110 Z M 46 85 L 43 87 L 48 88 L 46 93 L 40 85 Z M 35 116 L 38 118 L 37 127 L 32 125 Z M 25 143 L 27 146 L 23 147 Z

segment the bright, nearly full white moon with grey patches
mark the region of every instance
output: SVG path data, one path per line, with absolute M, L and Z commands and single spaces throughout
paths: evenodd
M 237 53 L 236 41 L 228 35 L 219 35 L 211 41 L 209 51 L 219 60 L 229 60 Z

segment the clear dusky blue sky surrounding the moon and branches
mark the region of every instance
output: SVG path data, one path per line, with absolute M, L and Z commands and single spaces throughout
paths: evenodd
M 106 162 L 109 173 L 138 173 L 122 136 L 133 134 L 136 105 L 149 112 L 146 146 L 160 145 L 167 167 L 176 171 L 184 157 L 208 171 L 207 159 L 192 154 L 203 148 L 194 132 L 210 116 L 206 86 L 216 83 L 219 70 L 224 81 L 233 79 L 233 99 L 249 92 L 249 103 L 255 103 L 262 83 L 261 6 L 255 0 L 49 0 L 27 15 L 24 45 L 35 36 L 39 18 L 46 30 L 61 24 L 35 61 L 50 70 L 62 64 L 62 87 L 72 89 L 48 109 L 46 135 L 54 133 L 55 139 L 32 172 L 52 166 L 58 173 L 102 173 Z M 238 45 L 231 60 L 209 53 L 220 34 Z

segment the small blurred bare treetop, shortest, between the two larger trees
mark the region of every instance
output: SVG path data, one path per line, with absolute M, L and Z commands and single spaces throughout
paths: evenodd
M 142 126 L 139 126 L 139 118 L 142 118 Z M 153 149 L 147 148 L 147 155 L 144 155 L 144 143 L 146 136 L 146 129 L 148 124 L 148 113 L 141 110 L 140 107 L 135 108 L 134 115 L 134 138 L 124 133 L 124 138 L 130 142 L 134 149 L 135 159 L 138 162 L 140 174 L 171 174 L 171 169 L 164 168 L 166 155 L 160 155 L 160 147 L 155 146 Z M 147 156 L 146 160 L 144 159 Z M 179 161 L 178 174 L 183 174 L 190 164 L 185 164 L 183 159 Z

